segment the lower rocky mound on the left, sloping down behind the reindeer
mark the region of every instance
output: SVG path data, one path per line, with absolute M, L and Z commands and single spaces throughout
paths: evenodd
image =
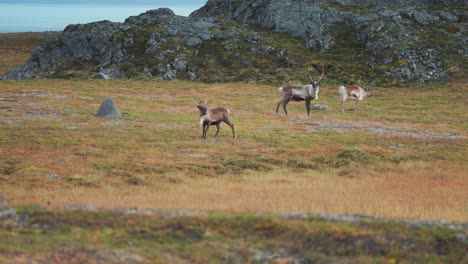
M 279 64 L 255 65 L 257 60 L 273 56 L 278 62 L 292 61 L 270 42 L 261 40 L 257 30 L 235 25 L 230 19 L 182 17 L 161 8 L 129 17 L 124 23 L 70 25 L 56 41 L 34 48 L 31 59 L 3 79 L 181 78 L 218 82 L 241 81 L 249 75 L 260 80 Z M 260 71 L 261 67 L 266 69 Z M 248 69 L 245 75 L 239 75 L 240 68 Z

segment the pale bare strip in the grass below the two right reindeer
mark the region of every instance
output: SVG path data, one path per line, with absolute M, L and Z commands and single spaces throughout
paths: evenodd
M 379 124 L 372 122 L 312 122 L 309 131 L 336 131 L 345 132 L 364 132 L 377 135 L 394 135 L 401 137 L 411 137 L 424 140 L 434 139 L 464 139 L 463 135 L 454 133 L 437 133 L 429 130 L 419 130 L 409 128 L 404 124 Z

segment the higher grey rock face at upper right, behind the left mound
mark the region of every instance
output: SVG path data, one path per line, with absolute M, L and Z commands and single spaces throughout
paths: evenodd
M 466 66 L 467 6 L 461 0 L 209 0 L 191 16 L 255 23 L 302 37 L 307 48 L 321 52 L 332 52 L 340 32 L 350 30 L 368 53 L 369 67 L 400 80 L 426 82 L 448 78 L 444 64 L 455 71 Z M 458 54 L 463 58 L 454 58 Z

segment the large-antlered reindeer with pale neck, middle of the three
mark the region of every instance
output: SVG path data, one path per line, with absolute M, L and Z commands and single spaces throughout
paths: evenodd
M 309 79 L 311 84 L 306 84 L 302 86 L 294 86 L 294 85 L 283 85 L 278 89 L 278 92 L 281 94 L 281 99 L 276 104 L 276 115 L 278 115 L 278 109 L 280 105 L 283 105 L 284 113 L 288 115 L 288 111 L 286 110 L 286 106 L 288 105 L 289 101 L 293 102 L 300 102 L 305 101 L 306 109 L 307 109 L 307 116 L 310 115 L 310 101 L 318 99 L 318 92 L 320 90 L 320 81 L 322 80 L 323 76 L 325 75 L 325 65 L 322 67 L 322 75 L 315 81 L 310 74 L 310 71 L 307 71 L 309 75 Z

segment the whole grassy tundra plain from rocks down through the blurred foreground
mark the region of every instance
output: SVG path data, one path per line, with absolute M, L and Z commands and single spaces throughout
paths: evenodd
M 2 49 L 15 49 L 8 41 L 0 43 Z M 9 53 L 9 61 L 24 61 L 27 56 L 20 53 Z M 7 69 L 4 63 L 2 67 L 3 71 Z M 304 103 L 290 103 L 289 117 L 275 117 L 279 94 L 278 87 L 273 86 L 185 81 L 1 81 L 0 194 L 7 197 L 10 206 L 28 213 L 31 224 L 50 224 L 53 228 L 46 235 L 28 227 L 0 229 L 0 237 L 10 241 L 0 241 L 0 255 L 40 254 L 55 248 L 57 242 L 72 248 L 65 255 L 73 257 L 73 248 L 97 245 L 114 250 L 128 248 L 126 243 L 131 242 L 144 249 L 154 247 L 151 238 L 162 237 L 157 240 L 162 246 L 156 253 L 182 252 L 178 255 L 182 259 L 216 262 L 219 252 L 202 252 L 200 258 L 187 256 L 221 238 L 229 238 L 226 243 L 238 245 L 239 250 L 252 243 L 265 248 L 286 247 L 273 242 L 275 239 L 302 241 L 289 248 L 301 252 L 311 244 L 299 234 L 321 234 L 331 237 L 333 243 L 351 243 L 356 237 L 378 237 L 386 230 L 395 236 L 407 232 L 401 231 L 407 227 L 393 229 L 393 224 L 377 223 L 369 229 L 322 220 L 278 222 L 276 218 L 249 214 L 257 211 L 467 222 L 467 84 L 375 87 L 373 97 L 359 103 L 358 112 L 347 111 L 345 115 L 340 113 L 338 85 L 322 82 L 320 99 L 314 103 L 332 109 L 313 110 L 307 118 Z M 107 97 L 113 98 L 123 113 L 121 118 L 94 116 Z M 237 139 L 232 139 L 228 126 L 221 126 L 217 141 L 203 143 L 192 98 L 206 97 L 210 106 L 231 109 Z M 346 110 L 352 107 L 353 103 L 345 103 Z M 214 132 L 210 129 L 209 137 Z M 23 208 L 31 204 L 43 209 Z M 113 226 L 110 222 L 115 215 L 77 215 L 56 209 L 77 204 L 235 214 L 181 217 L 171 224 L 151 217 L 121 216 Z M 53 219 L 65 220 L 55 223 L 58 220 Z M 98 223 L 104 223 L 104 227 Z M 132 227 L 132 223 L 137 224 Z M 239 225 L 258 228 L 237 236 L 220 233 L 220 223 L 233 230 Z M 182 230 L 180 234 L 173 225 Z M 261 234 L 257 236 L 257 232 Z M 411 239 L 424 241 L 415 242 L 416 246 L 429 248 L 421 253 L 423 259 L 417 260 L 438 259 L 431 255 L 437 252 L 430 250 L 439 248 L 437 239 L 454 250 L 444 253 L 446 261 L 466 260 L 463 246 L 453 242 L 453 233 L 438 233 L 438 229 L 414 232 L 417 234 L 411 233 Z M 187 237 L 200 243 L 186 244 Z M 20 247 L 24 241 L 32 241 L 32 246 Z M 409 250 L 413 244 L 397 245 L 401 248 L 396 252 L 380 252 L 385 258 L 375 260 L 413 259 Z M 232 247 L 232 251 L 237 250 Z M 336 253 L 336 248 L 330 251 Z M 349 256 L 349 251 L 341 252 Z M 357 259 L 349 261 L 369 261 L 360 259 L 361 253 L 373 256 L 353 252 Z M 313 254 L 310 259 L 320 260 Z

